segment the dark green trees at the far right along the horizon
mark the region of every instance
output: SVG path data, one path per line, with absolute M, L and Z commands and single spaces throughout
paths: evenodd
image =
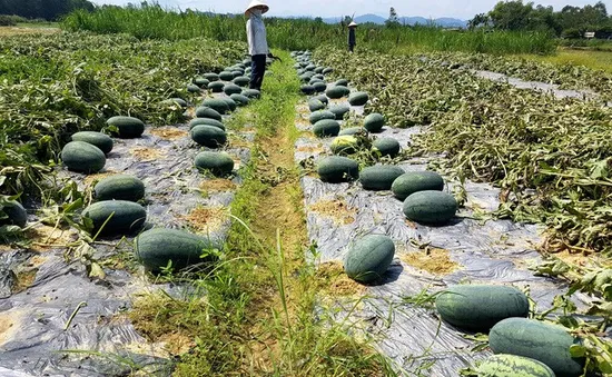
M 612 18 L 601 1 L 582 8 L 565 6 L 560 11 L 533 2 L 523 3 L 522 0 L 500 1 L 488 13 L 476 14 L 468 27 L 549 31 L 565 38 L 581 38 L 586 31 L 595 32 L 598 38 L 612 36 Z

